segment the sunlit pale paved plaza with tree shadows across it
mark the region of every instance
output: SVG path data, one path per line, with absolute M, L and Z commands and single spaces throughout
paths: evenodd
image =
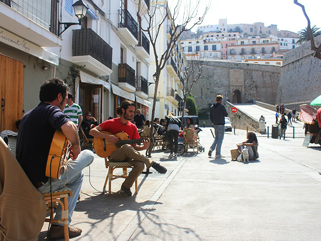
M 200 133 L 205 153 L 189 149 L 171 159 L 155 150 L 152 158 L 168 172 L 141 174 L 132 197 L 119 192 L 123 179 L 112 182 L 114 193 L 101 194 L 107 169 L 96 156 L 84 170 L 71 223 L 83 233 L 73 240 L 320 240 L 320 147 L 258 134 L 260 158 L 231 162 L 230 149 L 245 137 L 243 130 L 226 133 L 226 158 L 208 157 L 210 128 Z

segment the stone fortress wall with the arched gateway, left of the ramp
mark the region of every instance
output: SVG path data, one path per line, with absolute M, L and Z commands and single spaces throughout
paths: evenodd
M 226 100 L 238 102 L 233 98 L 235 91 L 242 103 L 249 100 L 275 103 L 280 66 L 227 61 L 207 61 L 204 64 L 202 77 L 192 88 L 199 110 L 209 109 L 217 94 L 223 95 L 223 103 Z

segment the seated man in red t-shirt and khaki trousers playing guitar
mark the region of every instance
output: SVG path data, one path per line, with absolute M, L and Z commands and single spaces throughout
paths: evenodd
M 139 139 L 140 137 L 136 126 L 130 122 L 135 114 L 135 104 L 129 100 L 124 100 L 116 109 L 116 113 L 120 115 L 119 118 L 113 118 L 103 122 L 98 127 L 91 129 L 89 134 L 93 137 L 105 138 L 113 144 L 118 142 L 118 138 L 102 133 L 101 131 L 107 131 L 113 134 L 124 132 L 129 136 L 130 140 Z M 131 196 L 130 188 L 144 170 L 144 164 L 146 168 L 152 167 L 159 173 L 164 174 L 167 172 L 165 167 L 154 162 L 151 158 L 144 157 L 138 152 L 148 149 L 150 144 L 149 139 L 148 141 L 143 140 L 142 144 L 143 146 L 138 146 L 137 144 L 123 145 L 108 157 L 109 161 L 112 162 L 129 162 L 133 165 L 131 172 L 121 185 L 121 191 L 126 196 Z

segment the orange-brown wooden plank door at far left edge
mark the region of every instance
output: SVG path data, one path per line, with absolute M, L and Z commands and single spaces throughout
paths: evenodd
M 0 131 L 17 132 L 16 121 L 23 116 L 24 63 L 0 55 Z

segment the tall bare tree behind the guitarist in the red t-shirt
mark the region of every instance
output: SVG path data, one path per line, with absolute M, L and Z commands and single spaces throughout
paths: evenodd
M 154 53 L 156 68 L 151 120 L 154 119 L 156 94 L 159 83 L 159 75 L 161 74 L 161 71 L 166 67 L 169 58 L 173 56 L 177 51 L 176 47 L 183 33 L 190 31 L 196 25 L 202 24 L 204 17 L 209 10 L 209 6 L 206 6 L 205 10 L 203 10 L 202 13 L 199 13 L 199 6 L 201 1 L 202 0 L 172 0 L 172 6 L 169 6 L 167 1 L 151 0 L 148 12 L 146 14 L 143 13 L 147 18 L 148 26 L 147 28 L 142 28 L 141 30 L 148 34 L 152 52 Z M 159 45 L 161 31 L 164 27 L 167 27 L 164 26 L 164 24 L 166 24 L 167 18 L 171 22 L 171 37 L 167 41 L 167 48 L 164 49 L 164 52 L 159 53 L 157 52 L 159 51 L 157 46 Z M 150 132 L 150 138 L 152 138 L 152 132 Z

